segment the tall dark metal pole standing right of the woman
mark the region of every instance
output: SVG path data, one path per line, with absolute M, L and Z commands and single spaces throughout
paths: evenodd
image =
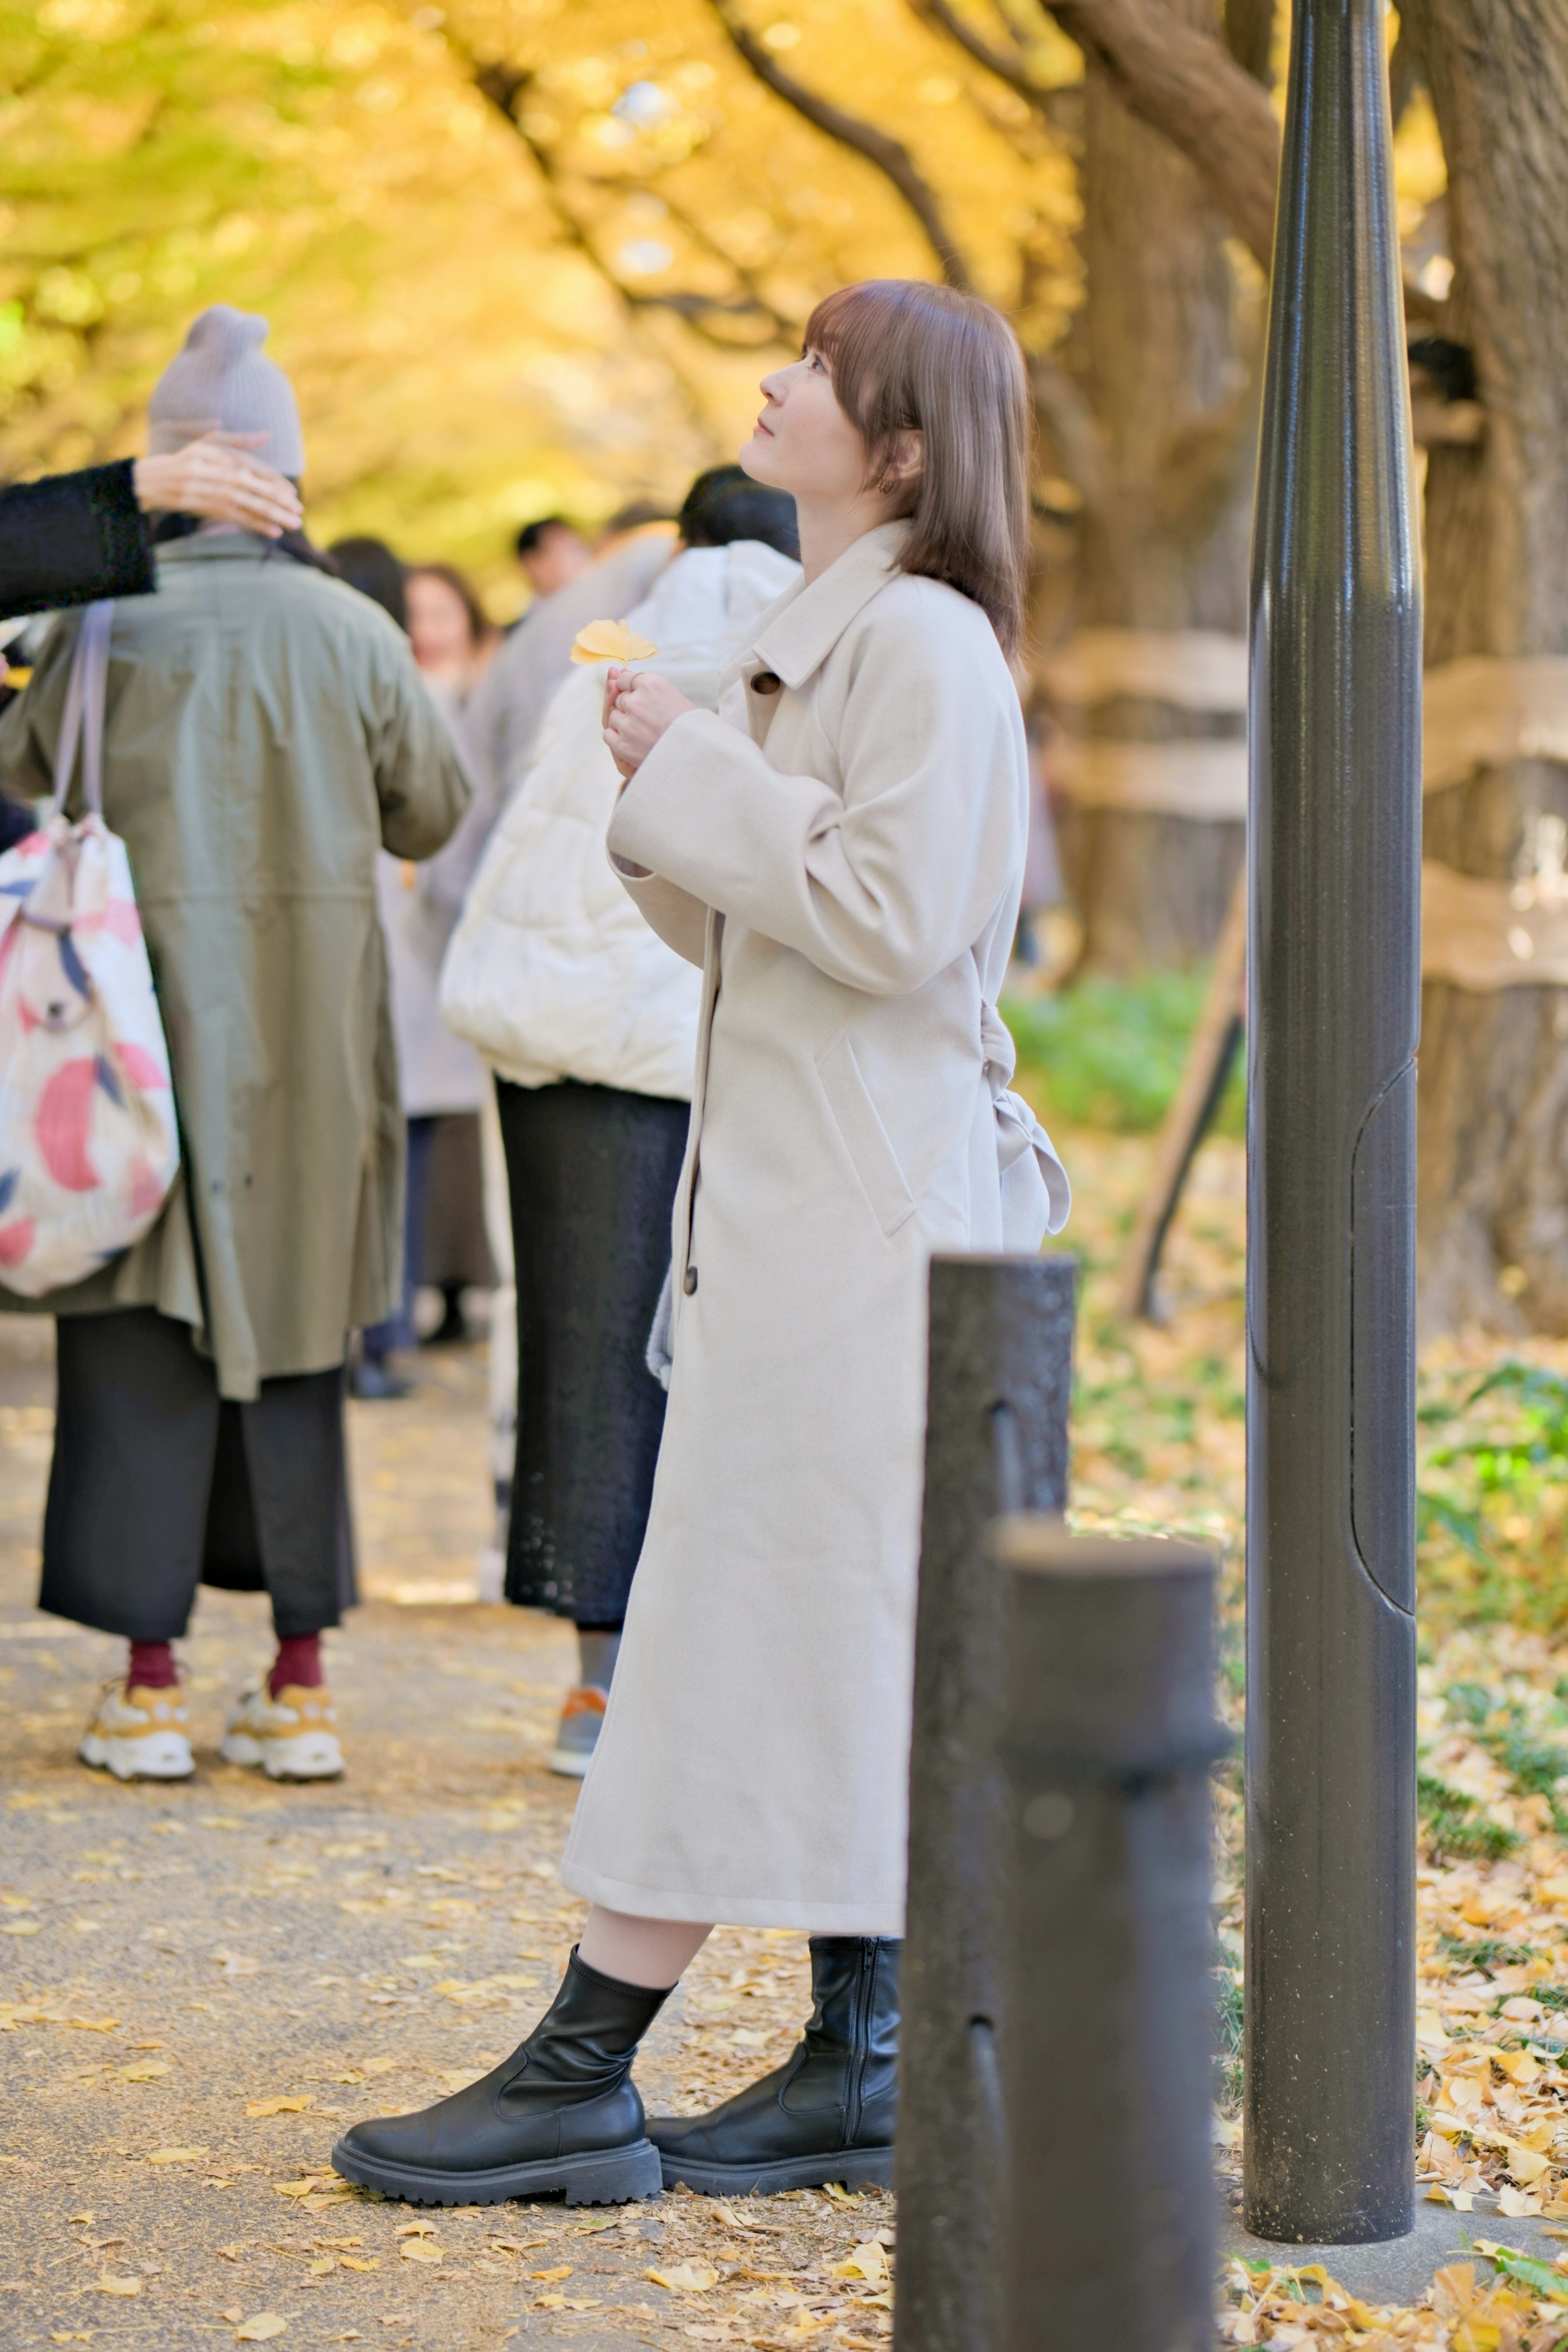
M 1295 0 L 1253 541 L 1246 2223 L 1413 2227 L 1420 583 L 1382 0 Z

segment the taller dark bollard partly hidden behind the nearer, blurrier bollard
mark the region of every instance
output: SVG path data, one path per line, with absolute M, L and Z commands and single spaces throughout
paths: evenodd
M 1006 1630 L 987 1545 L 999 1510 L 1067 1501 L 1074 1277 L 1067 1256 L 931 1261 L 898 2089 L 900 2352 L 1001 2347 L 992 2034 L 1009 1931 L 994 1755 Z

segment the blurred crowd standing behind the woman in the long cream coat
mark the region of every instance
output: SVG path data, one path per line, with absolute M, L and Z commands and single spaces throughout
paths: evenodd
M 503 630 L 454 564 L 369 536 L 313 546 L 299 409 L 263 336 L 202 313 L 153 395 L 150 456 L 9 492 L 0 517 L 0 621 L 35 663 L 0 717 L 0 847 L 56 783 L 71 607 L 113 597 L 103 807 L 139 882 L 186 1157 L 148 1242 L 101 1277 L 45 1301 L 0 1282 L 0 1305 L 59 1315 L 42 1602 L 129 1642 L 85 1759 L 181 1776 L 174 1642 L 197 1583 L 263 1588 L 277 1656 L 223 1750 L 339 1771 L 320 1635 L 355 1595 L 343 1395 L 395 1402 L 421 1348 L 487 1331 L 480 1590 L 576 1623 L 552 1764 L 581 1776 L 663 1428 L 649 1331 L 701 978 L 607 863 L 604 673 L 571 649 L 628 619 L 712 708 L 745 626 L 797 576 L 795 508 L 719 466 L 679 510 L 637 501 L 597 532 L 538 517 L 515 536 L 527 607 Z M 45 619 L 24 633 L 28 614 Z M 282 922 L 256 896 L 277 858 Z M 329 981 L 315 1007 L 308 981 Z

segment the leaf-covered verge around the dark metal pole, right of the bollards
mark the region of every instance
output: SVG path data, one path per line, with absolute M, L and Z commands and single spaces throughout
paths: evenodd
M 1161 1327 L 1110 1315 L 1147 1150 L 1063 1134 L 1084 1256 L 1072 1505 L 1222 1562 L 1222 1705 L 1241 1722 L 1241 1145 L 1211 1141 L 1166 1258 Z M 1472 1341 L 1420 1371 L 1420 2157 L 1455 2237 L 1568 2225 L 1568 1345 Z M 1241 1790 L 1218 1788 L 1222 2176 L 1239 2178 Z M 1469 2218 L 1465 2218 L 1469 2216 Z M 1568 2343 L 1563 2270 L 1474 2253 L 1429 2300 L 1373 2312 L 1305 2274 L 1225 2281 L 1225 2340 L 1544 2352 Z

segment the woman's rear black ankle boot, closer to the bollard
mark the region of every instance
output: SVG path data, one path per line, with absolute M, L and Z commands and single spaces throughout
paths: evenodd
M 665 2187 L 766 2197 L 825 2180 L 893 2185 L 898 1955 L 891 1936 L 813 1936 L 816 2009 L 795 2056 L 712 2114 L 656 2114 Z

